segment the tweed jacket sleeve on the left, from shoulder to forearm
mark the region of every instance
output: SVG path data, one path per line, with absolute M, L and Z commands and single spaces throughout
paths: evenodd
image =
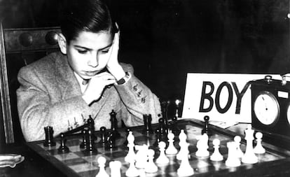
M 44 139 L 43 127 L 48 125 L 57 135 L 67 131 L 68 121 L 74 125 L 76 118 L 79 124 L 83 123 L 81 114 L 88 110 L 88 106 L 81 95 L 52 101 L 56 96 L 48 92 L 45 80 L 39 78 L 32 67 L 20 69 L 18 81 L 18 115 L 27 141 Z

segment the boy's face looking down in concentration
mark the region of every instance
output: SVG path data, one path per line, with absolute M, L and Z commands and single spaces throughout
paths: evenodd
M 69 65 L 81 78 L 92 78 L 109 62 L 112 42 L 109 32 L 82 31 L 66 45 Z

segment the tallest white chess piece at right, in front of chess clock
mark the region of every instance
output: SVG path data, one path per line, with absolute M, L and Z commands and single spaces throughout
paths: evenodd
M 251 125 L 248 125 L 244 132 L 246 134 L 244 139 L 247 141 L 247 147 L 244 156 L 242 156 L 242 162 L 245 164 L 256 164 L 258 162 L 258 157 L 256 157 L 253 148 L 254 129 L 251 129 Z

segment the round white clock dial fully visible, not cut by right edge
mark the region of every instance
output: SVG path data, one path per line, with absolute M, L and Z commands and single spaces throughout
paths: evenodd
M 274 124 L 279 117 L 279 103 L 275 96 L 270 92 L 260 92 L 254 101 L 254 113 L 263 125 Z

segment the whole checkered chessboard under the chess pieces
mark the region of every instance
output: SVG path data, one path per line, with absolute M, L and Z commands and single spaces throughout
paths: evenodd
M 240 135 L 242 141 L 240 141 L 240 148 L 244 152 L 246 150 L 246 141 L 244 140 L 244 134 L 236 134 L 227 129 L 221 129 L 219 127 L 209 126 L 212 131 L 212 135 L 209 136 L 209 153 L 212 155 L 214 152 L 213 141 L 219 139 L 219 150 L 223 155 L 223 160 L 220 162 L 214 162 L 209 157 L 197 157 L 195 152 L 198 150 L 197 137 L 202 133 L 204 129 L 204 122 L 199 120 L 177 120 L 177 126 L 179 129 L 184 129 L 187 135 L 186 141 L 189 143 L 189 163 L 194 169 L 193 176 L 263 176 L 273 171 L 279 170 L 276 167 L 281 167 L 280 164 L 289 162 L 290 152 L 276 146 L 263 143 L 265 153 L 257 155 L 258 163 L 256 164 L 244 164 L 241 163 L 239 167 L 228 167 L 225 161 L 228 157 L 227 143 L 234 140 L 236 135 Z M 152 125 L 153 129 L 157 128 L 157 125 Z M 144 126 L 131 127 L 132 134 L 134 135 L 135 145 L 148 145 L 149 148 L 155 151 L 154 160 L 159 156 L 160 151 L 156 146 L 156 133 L 146 134 L 144 133 Z M 125 176 L 125 172 L 129 168 L 129 163 L 125 162 L 125 156 L 128 153 L 128 147 L 125 144 L 127 140 L 126 129 L 118 129 L 120 132 L 120 138 L 116 139 L 116 148 L 107 150 L 98 143 L 100 140 L 100 132 L 96 131 L 94 134 L 97 136 L 95 140 L 95 146 L 97 153 L 88 153 L 80 148 L 82 143 L 82 134 L 73 134 L 67 136 L 66 146 L 69 148 L 68 153 L 60 153 L 57 150 L 60 147 L 60 140 L 55 139 L 56 146 L 45 147 L 43 141 L 29 142 L 27 145 L 41 155 L 48 163 L 53 164 L 57 169 L 62 171 L 64 176 L 96 176 L 99 172 L 99 164 L 97 162 L 99 157 L 105 157 L 106 164 L 105 170 L 107 174 L 111 174 L 109 169 L 109 162 L 120 161 L 122 166 L 120 168 L 121 176 Z M 255 145 L 255 143 L 254 143 Z M 179 147 L 178 134 L 174 137 L 174 146 L 177 150 Z M 181 164 L 180 160 L 177 160 L 176 155 L 167 155 L 170 159 L 168 164 L 158 165 L 158 171 L 153 174 L 146 174 L 146 176 L 178 176 L 177 169 Z M 275 163 L 273 163 L 275 162 Z M 271 169 L 272 168 L 272 169 Z M 285 167 L 287 168 L 287 167 Z

